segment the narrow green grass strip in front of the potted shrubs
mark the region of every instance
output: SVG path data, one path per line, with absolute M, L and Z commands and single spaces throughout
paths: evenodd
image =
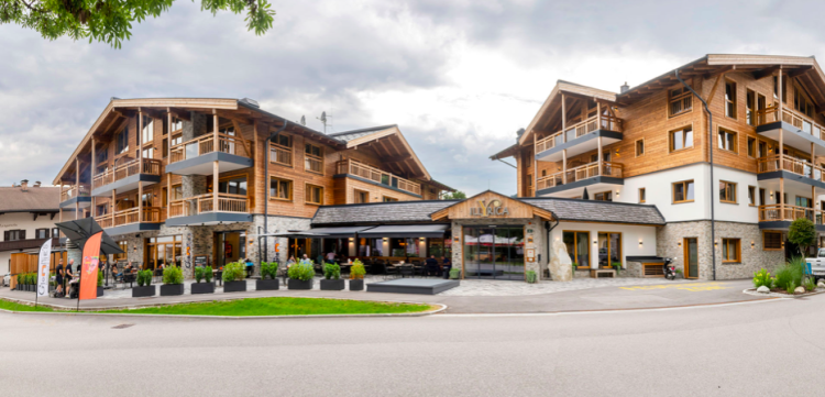
M 227 301 L 179 304 L 133 310 L 107 310 L 100 312 L 182 316 L 306 316 L 410 313 L 429 309 L 429 305 L 387 304 L 363 300 L 323 298 L 248 298 Z

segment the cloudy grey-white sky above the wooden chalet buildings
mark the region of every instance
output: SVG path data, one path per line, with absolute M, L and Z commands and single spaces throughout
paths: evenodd
M 272 1 L 264 36 L 177 1 L 122 49 L 0 25 L 0 185 L 51 183 L 110 97 L 249 97 L 318 130 L 327 111 L 328 132 L 399 124 L 437 180 L 514 194 L 487 157 L 557 79 L 617 91 L 708 53 L 825 54 L 814 2 Z

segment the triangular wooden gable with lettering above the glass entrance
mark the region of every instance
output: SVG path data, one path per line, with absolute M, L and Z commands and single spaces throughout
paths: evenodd
M 521 200 L 487 190 L 430 214 L 433 221 L 447 219 L 532 219 L 553 220 L 552 212 Z

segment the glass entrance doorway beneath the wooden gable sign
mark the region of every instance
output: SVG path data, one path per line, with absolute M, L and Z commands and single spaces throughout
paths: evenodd
M 468 278 L 525 279 L 525 228 L 464 228 Z

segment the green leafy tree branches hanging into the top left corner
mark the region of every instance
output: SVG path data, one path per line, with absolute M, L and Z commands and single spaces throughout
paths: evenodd
M 157 18 L 174 0 L 0 0 L 0 24 L 14 23 L 44 38 L 69 36 L 109 43 L 120 48 L 132 36 L 132 22 Z M 194 0 L 193 0 L 194 1 Z M 201 10 L 246 12 L 246 27 L 264 34 L 275 11 L 267 0 L 201 0 Z

